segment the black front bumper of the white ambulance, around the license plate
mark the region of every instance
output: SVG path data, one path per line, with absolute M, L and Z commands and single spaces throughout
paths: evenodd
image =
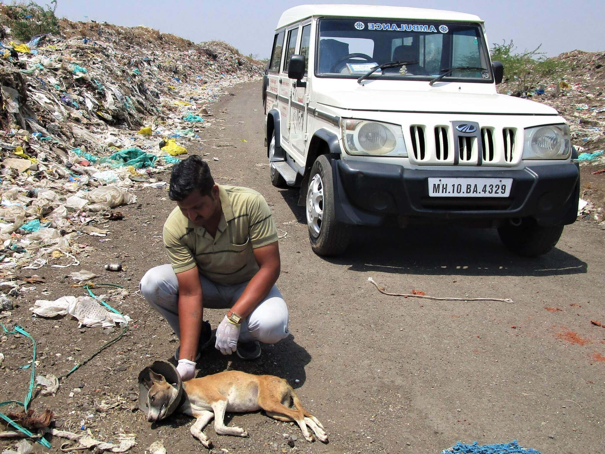
M 379 225 L 389 215 L 414 218 L 502 220 L 531 217 L 540 225 L 571 224 L 577 217 L 580 173 L 573 163 L 520 170 L 450 171 L 333 160 L 336 217 L 348 225 Z M 428 178 L 512 178 L 509 197 L 430 197 Z

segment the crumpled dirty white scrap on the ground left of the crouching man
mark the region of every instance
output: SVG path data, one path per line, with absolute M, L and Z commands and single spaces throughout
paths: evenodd
M 55 317 L 56 315 L 70 314 L 80 322 L 79 326 L 90 328 L 102 326 L 103 328 L 128 324 L 131 320 L 128 315 L 119 315 L 107 311 L 96 300 L 90 297 L 60 297 L 58 300 L 36 300 L 30 311 L 41 317 Z

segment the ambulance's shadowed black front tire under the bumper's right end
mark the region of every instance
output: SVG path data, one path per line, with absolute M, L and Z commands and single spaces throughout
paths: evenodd
M 507 222 L 498 228 L 506 249 L 523 257 L 538 257 L 551 251 L 562 233 L 562 225 L 540 226 L 534 219 L 523 219 L 520 225 Z

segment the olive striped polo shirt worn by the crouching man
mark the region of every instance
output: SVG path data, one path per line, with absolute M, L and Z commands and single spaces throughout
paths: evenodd
M 240 284 L 258 271 L 252 249 L 276 242 L 277 229 L 269 205 L 257 191 L 223 185 L 218 191 L 223 215 L 215 238 L 177 206 L 164 224 L 164 245 L 175 273 L 197 266 L 215 283 Z

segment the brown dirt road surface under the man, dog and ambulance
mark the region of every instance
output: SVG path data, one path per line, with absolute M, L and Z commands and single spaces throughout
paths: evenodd
M 287 232 L 280 240 L 278 286 L 289 304 L 292 337 L 264 347 L 254 363 L 211 349 L 199 373 L 231 367 L 287 378 L 324 423 L 330 442 L 308 444 L 297 427 L 253 413 L 227 418 L 248 429 L 249 438 L 217 436 L 208 427 L 214 452 L 438 454 L 456 441 L 514 439 L 543 454 L 599 452 L 605 446 L 605 329 L 590 323 L 605 324 L 604 231 L 578 222 L 565 229 L 555 251 L 522 260 L 506 252 L 491 231 L 364 229 L 347 254 L 320 258 L 309 246 L 304 211 L 296 206 L 298 191 L 270 183 L 260 85 L 239 85 L 232 93 L 211 107 L 214 124 L 196 145 L 198 153 L 208 153 L 218 183 L 260 191 L 280 233 Z M 195 148 L 189 145 L 190 152 Z M 148 268 L 167 261 L 160 235 L 173 205 L 165 198 L 165 191 L 149 189 L 139 192 L 140 208 L 121 207 L 126 220 L 105 226 L 111 241 L 96 243 L 90 237 L 96 252 L 81 257 L 82 268 L 100 273 L 105 263 L 123 260 L 125 272 L 106 273 L 99 281 L 136 290 Z M 68 272 L 42 271 L 47 286 L 39 290 L 51 291 L 45 299 L 79 294 L 62 278 Z M 514 304 L 390 297 L 368 277 L 391 292 L 512 298 Z M 38 339 L 38 373 L 64 373 L 115 336 L 80 331 L 67 318 L 32 318 L 27 308 L 37 297 L 34 292 L 21 298 L 13 323 Z M 118 309 L 134 320 L 128 337 L 65 380 L 55 398 L 36 398 L 34 408 L 53 409 L 71 430 L 80 430 L 84 419 L 102 439 L 136 433 L 139 445 L 133 453 L 143 453 L 157 439 L 169 453 L 203 451 L 189 435 L 192 419 L 176 416 L 151 429 L 142 413 L 131 411 L 139 370 L 168 358 L 177 343 L 168 324 L 137 295 Z M 213 328 L 222 317 L 223 312 L 206 311 Z M 9 350 L 10 344 L 16 348 Z M 29 372 L 18 366 L 30 358 L 30 344 L 9 337 L 0 351 L 7 357 L 0 384 L 18 394 L 3 391 L 2 400 L 21 398 Z M 82 392 L 69 398 L 80 385 Z M 102 400 L 122 403 L 108 413 L 96 412 Z M 298 436 L 295 448 L 282 433 Z M 59 444 L 53 441 L 54 451 Z

